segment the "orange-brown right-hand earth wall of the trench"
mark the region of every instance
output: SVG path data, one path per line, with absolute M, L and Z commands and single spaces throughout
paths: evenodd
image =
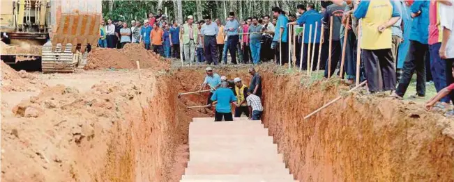
M 452 181 L 453 121 L 418 105 L 349 95 L 338 82 L 264 73 L 263 122 L 299 181 Z

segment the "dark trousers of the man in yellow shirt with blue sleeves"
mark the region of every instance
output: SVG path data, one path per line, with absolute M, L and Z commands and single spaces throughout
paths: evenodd
M 370 92 L 395 90 L 394 58 L 391 49 L 362 51 Z

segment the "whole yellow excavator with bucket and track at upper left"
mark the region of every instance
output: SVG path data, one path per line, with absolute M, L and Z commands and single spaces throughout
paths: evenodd
M 74 72 L 99 39 L 102 0 L 0 0 L 1 60 Z M 8 41 L 5 41 L 8 40 Z

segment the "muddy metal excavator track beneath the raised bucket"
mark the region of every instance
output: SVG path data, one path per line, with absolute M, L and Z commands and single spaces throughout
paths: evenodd
M 64 49 L 61 51 L 61 49 Z M 78 67 L 83 68 L 86 64 L 87 53 L 72 52 L 72 45 L 66 44 L 66 47 L 61 47 L 57 44 L 55 51 L 52 51 L 52 44 L 47 42 L 43 46 L 41 56 L 41 68 L 43 73 L 72 73 Z

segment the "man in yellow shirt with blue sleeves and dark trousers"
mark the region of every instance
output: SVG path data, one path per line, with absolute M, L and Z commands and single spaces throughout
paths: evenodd
M 395 1 L 363 0 L 354 11 L 362 21 L 361 49 L 369 92 L 395 90 L 391 26 L 400 13 Z

